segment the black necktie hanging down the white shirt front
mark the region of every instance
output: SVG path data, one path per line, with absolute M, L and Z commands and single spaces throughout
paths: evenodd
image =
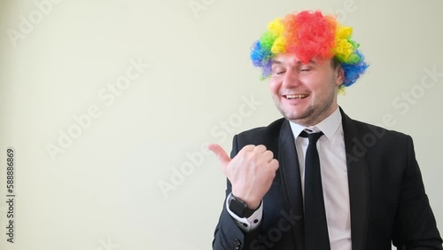
M 308 137 L 305 160 L 305 249 L 329 250 L 328 223 L 324 210 L 322 176 L 317 152 L 317 140 L 323 132 L 307 134 L 303 131 L 300 137 Z

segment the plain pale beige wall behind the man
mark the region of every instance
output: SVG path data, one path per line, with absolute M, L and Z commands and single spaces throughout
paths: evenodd
M 442 231 L 441 0 L 4 0 L 0 248 L 210 249 L 225 178 L 205 145 L 280 117 L 249 48 L 304 9 L 354 27 L 370 67 L 339 103 L 414 138 Z

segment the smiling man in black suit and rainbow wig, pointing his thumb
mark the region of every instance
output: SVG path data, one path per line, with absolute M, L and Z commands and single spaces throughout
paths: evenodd
M 235 136 L 232 159 L 209 145 L 228 177 L 214 249 L 442 249 L 411 137 L 338 107 L 368 66 L 351 35 L 296 12 L 253 44 L 284 118 Z

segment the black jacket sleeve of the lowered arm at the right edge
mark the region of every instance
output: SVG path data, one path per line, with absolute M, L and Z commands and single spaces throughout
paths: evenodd
M 408 137 L 408 166 L 403 173 L 392 243 L 398 249 L 443 249 L 411 137 Z

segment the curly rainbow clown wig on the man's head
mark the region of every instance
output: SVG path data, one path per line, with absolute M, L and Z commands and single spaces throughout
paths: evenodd
M 335 59 L 345 79 L 339 90 L 351 86 L 364 73 L 368 64 L 352 39 L 353 28 L 342 26 L 334 16 L 304 11 L 288 14 L 268 24 L 268 30 L 253 43 L 251 60 L 260 66 L 262 78 L 271 74 L 272 58 L 279 53 L 295 54 L 304 64 L 310 59 Z

